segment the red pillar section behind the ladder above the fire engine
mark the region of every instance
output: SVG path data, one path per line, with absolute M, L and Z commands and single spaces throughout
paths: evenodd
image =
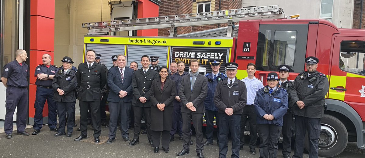
M 138 0 L 137 18 L 158 16 L 158 5 L 149 0 Z M 158 36 L 158 29 L 143 29 L 137 31 L 137 36 Z

